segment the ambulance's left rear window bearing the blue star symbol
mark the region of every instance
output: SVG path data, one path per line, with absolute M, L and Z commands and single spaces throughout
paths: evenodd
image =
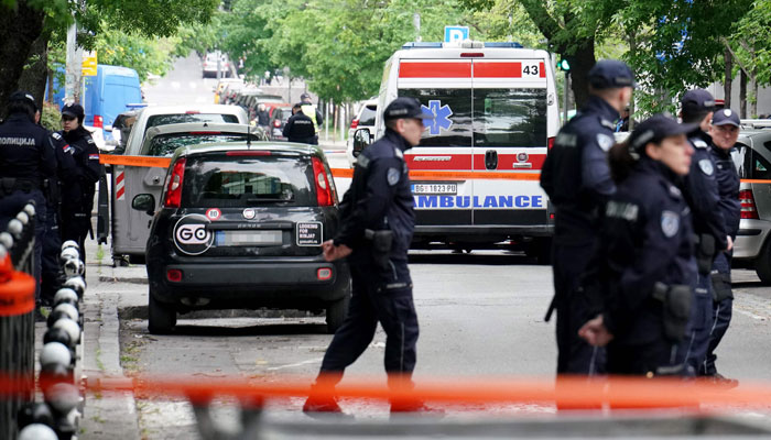
M 399 96 L 417 98 L 437 116 L 425 122 L 419 146 L 471 146 L 471 89 L 399 89 Z

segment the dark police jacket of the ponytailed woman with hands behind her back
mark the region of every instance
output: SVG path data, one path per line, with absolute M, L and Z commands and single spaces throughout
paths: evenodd
M 620 343 L 647 343 L 663 333 L 654 284 L 695 279 L 691 209 L 675 175 L 643 156 L 605 207 L 598 248 L 584 282 L 602 297 L 606 328 Z

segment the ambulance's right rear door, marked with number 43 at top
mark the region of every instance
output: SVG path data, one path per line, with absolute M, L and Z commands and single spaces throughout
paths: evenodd
M 473 224 L 496 241 L 545 235 L 547 198 L 539 176 L 558 130 L 549 56 L 486 50 L 473 66 Z

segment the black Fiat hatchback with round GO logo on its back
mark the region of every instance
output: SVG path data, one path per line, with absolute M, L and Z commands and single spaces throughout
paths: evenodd
M 326 310 L 329 332 L 345 318 L 350 273 L 326 262 L 337 193 L 321 148 L 253 142 L 182 146 L 172 156 L 146 244 L 149 330 L 171 332 L 196 309 Z

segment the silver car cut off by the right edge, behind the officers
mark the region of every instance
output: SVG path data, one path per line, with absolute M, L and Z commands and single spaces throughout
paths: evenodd
M 734 263 L 771 284 L 771 130 L 742 130 L 732 154 L 742 183 Z

